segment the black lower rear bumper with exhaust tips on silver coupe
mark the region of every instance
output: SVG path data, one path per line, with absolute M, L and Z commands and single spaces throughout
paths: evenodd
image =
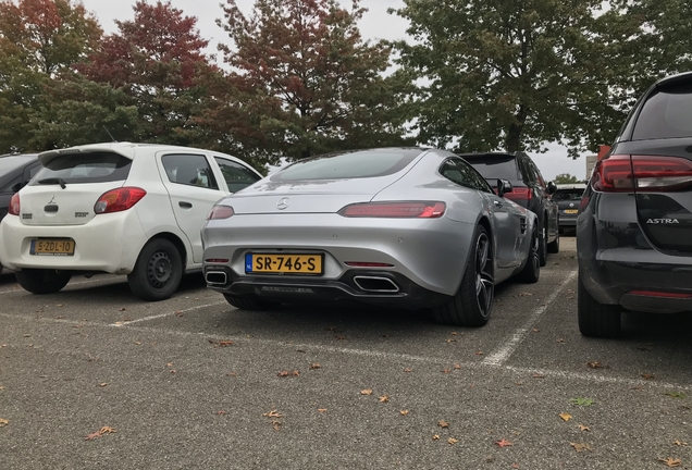
M 207 286 L 222 294 L 242 298 L 262 298 L 282 302 L 292 301 L 354 301 L 372 306 L 418 310 L 446 302 L 449 296 L 425 289 L 399 273 L 369 270 L 349 270 L 335 280 L 286 279 L 285 276 L 240 277 L 227 265 L 205 267 Z M 225 282 L 210 283 L 210 280 Z M 211 276 L 210 276 L 211 274 Z M 363 280 L 378 280 L 386 290 L 368 289 Z M 386 281 L 384 281 L 386 280 Z

